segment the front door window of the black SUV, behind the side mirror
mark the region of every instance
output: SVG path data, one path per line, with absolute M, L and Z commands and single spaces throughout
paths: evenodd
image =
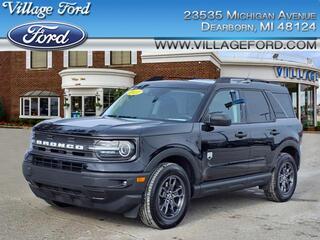
M 213 97 L 208 108 L 208 113 L 224 113 L 230 117 L 232 123 L 241 123 L 243 122 L 242 106 L 241 104 L 232 105 L 232 102 L 239 98 L 238 91 L 219 91 Z

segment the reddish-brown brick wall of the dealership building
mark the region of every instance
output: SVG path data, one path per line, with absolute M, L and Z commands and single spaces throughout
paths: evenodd
M 19 98 L 33 90 L 47 90 L 60 94 L 60 109 L 63 116 L 63 90 L 59 72 L 63 70 L 63 52 L 53 52 L 53 66 L 45 70 L 26 69 L 26 53 L 0 52 L 0 97 L 2 97 L 8 119 L 19 117 Z M 93 53 L 93 67 L 115 68 L 104 65 L 104 52 Z M 141 52 L 138 53 L 138 64 L 117 66 L 117 69 L 135 72 L 135 83 L 162 76 L 166 79 L 179 78 L 217 78 L 220 72 L 211 62 L 180 63 L 141 63 Z

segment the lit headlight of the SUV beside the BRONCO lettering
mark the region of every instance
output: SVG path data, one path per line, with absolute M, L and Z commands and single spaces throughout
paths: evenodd
M 93 149 L 101 159 L 129 160 L 136 154 L 135 144 L 127 140 L 98 141 Z

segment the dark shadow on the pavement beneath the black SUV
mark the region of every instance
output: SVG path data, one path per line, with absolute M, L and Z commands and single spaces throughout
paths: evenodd
M 263 204 L 267 200 L 263 191 L 258 188 L 251 188 L 241 191 L 220 193 L 204 198 L 192 199 L 185 220 L 180 226 L 194 223 L 199 219 L 206 218 L 219 212 L 233 212 L 235 209 L 247 206 Z M 56 207 L 54 207 L 56 208 Z M 115 226 L 127 226 L 134 228 L 144 228 L 138 219 L 125 218 L 120 214 L 113 214 L 99 210 L 85 209 L 79 207 L 69 207 L 58 209 L 70 215 L 96 220 L 95 224 L 103 227 L 103 222 L 114 224 Z

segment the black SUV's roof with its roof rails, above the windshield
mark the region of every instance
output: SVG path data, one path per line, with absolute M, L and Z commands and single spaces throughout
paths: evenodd
M 187 79 L 187 80 L 156 80 L 145 81 L 139 83 L 138 87 L 153 86 L 153 87 L 173 87 L 173 88 L 194 88 L 194 89 L 208 89 L 210 86 L 232 86 L 235 88 L 251 88 L 269 90 L 272 92 L 288 92 L 287 88 L 277 83 L 257 79 L 244 79 L 244 78 L 218 78 L 218 79 Z

